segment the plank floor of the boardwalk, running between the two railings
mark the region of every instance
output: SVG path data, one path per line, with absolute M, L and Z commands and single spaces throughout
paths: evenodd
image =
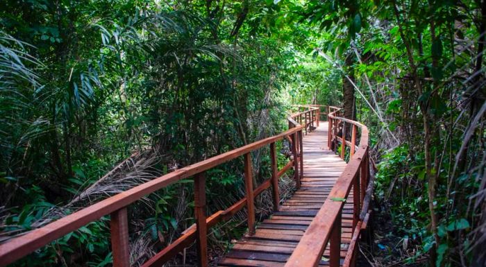
M 253 236 L 247 234 L 237 241 L 219 266 L 284 266 L 345 166 L 346 162 L 328 149 L 328 123 L 321 121 L 303 137 L 301 188 L 271 218 L 258 224 Z M 352 216 L 351 192 L 342 212 L 341 264 L 351 241 Z M 326 248 L 319 266 L 328 266 L 328 259 Z

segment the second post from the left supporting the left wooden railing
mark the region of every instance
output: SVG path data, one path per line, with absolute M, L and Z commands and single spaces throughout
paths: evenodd
M 208 266 L 208 225 L 206 225 L 206 176 L 194 176 L 194 215 L 196 217 L 197 256 L 199 266 Z

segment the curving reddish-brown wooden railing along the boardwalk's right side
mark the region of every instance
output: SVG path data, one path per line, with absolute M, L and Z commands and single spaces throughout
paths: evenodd
M 330 267 L 340 266 L 341 251 L 341 225 L 342 209 L 346 199 L 349 197 L 351 187 L 353 187 L 353 227 L 351 244 L 344 258 L 344 266 L 354 266 L 357 253 L 358 236 L 366 218 L 360 214 L 366 212 L 369 203 L 364 203 L 364 195 L 367 193 L 369 183 L 369 132 L 367 126 L 358 121 L 353 121 L 339 117 L 340 107 L 328 107 L 328 146 L 331 150 L 337 151 L 337 142 L 341 143 L 340 156 L 344 159 L 346 146 L 350 146 L 350 160 L 346 168 L 337 179 L 333 189 L 331 189 L 324 205 L 322 205 L 317 215 L 310 223 L 303 234 L 299 244 L 285 264 L 285 267 L 310 267 L 318 266 L 322 263 L 321 257 L 328 246 L 330 250 Z M 351 141 L 346 140 L 346 124 L 352 126 Z M 342 126 L 341 126 L 342 124 Z M 341 126 L 341 130 L 340 130 Z M 357 128 L 361 129 L 360 144 L 355 150 Z M 338 137 L 341 132 L 341 138 Z M 369 198 L 367 198 L 369 202 Z

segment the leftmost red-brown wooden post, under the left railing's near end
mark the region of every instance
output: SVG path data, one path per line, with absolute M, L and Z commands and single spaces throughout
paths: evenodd
M 110 216 L 113 266 L 130 267 L 131 264 L 128 243 L 128 215 L 126 214 L 126 207 L 118 209 Z

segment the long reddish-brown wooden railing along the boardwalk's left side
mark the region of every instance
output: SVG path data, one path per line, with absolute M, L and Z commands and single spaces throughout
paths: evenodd
M 255 205 L 253 203 L 255 196 L 262 193 L 265 189 L 272 187 L 274 208 L 278 209 L 280 197 L 278 194 L 278 179 L 291 169 L 294 168 L 294 179 L 297 187 L 300 186 L 300 178 L 302 171 L 299 172 L 299 166 L 302 166 L 302 132 L 305 130 L 312 130 L 314 121 L 316 121 L 316 114 L 318 114 L 316 107 L 309 107 L 303 112 L 293 114 L 288 117 L 290 129 L 268 137 L 252 144 L 236 148 L 221 155 L 211 157 L 208 160 L 197 162 L 190 166 L 185 166 L 159 178 L 153 179 L 150 182 L 140 184 L 115 196 L 101 200 L 99 203 L 85 207 L 84 209 L 67 215 L 63 218 L 49 223 L 44 227 L 38 228 L 31 232 L 11 239 L 6 243 L 0 245 L 0 266 L 6 266 L 17 259 L 20 259 L 31 252 L 46 246 L 47 244 L 59 239 L 69 232 L 78 230 L 79 228 L 97 221 L 103 216 L 110 215 L 110 231 L 112 243 L 113 264 L 115 266 L 130 266 L 130 251 L 128 243 L 128 216 L 127 207 L 137 200 L 140 200 L 146 195 L 153 193 L 159 189 L 174 184 L 179 180 L 185 178 L 194 178 L 194 214 L 196 218 L 195 225 L 185 230 L 181 237 L 176 239 L 158 252 L 157 255 L 146 261 L 143 265 L 148 266 L 162 266 L 166 261 L 173 258 L 178 252 L 181 252 L 187 246 L 190 246 L 194 241 L 197 242 L 197 251 L 199 255 L 199 265 L 208 266 L 208 249 L 206 235 L 208 228 L 214 226 L 220 221 L 227 221 L 236 212 L 246 206 L 248 215 L 249 234 L 255 232 Z M 300 121 L 300 122 L 298 122 Z M 301 126 L 304 121 L 304 126 Z M 317 123 L 318 120 L 317 120 Z M 277 151 L 276 141 L 281 139 L 289 139 L 291 143 L 292 159 L 282 169 L 277 169 Z M 258 187 L 254 188 L 253 171 L 251 163 L 251 152 L 264 146 L 270 147 L 271 153 L 271 178 L 262 182 Z M 220 210 L 215 214 L 206 217 L 206 178 L 204 173 L 209 169 L 234 160 L 237 157 L 244 157 L 244 182 L 246 188 L 246 196 L 237 203 L 228 207 L 228 209 Z

